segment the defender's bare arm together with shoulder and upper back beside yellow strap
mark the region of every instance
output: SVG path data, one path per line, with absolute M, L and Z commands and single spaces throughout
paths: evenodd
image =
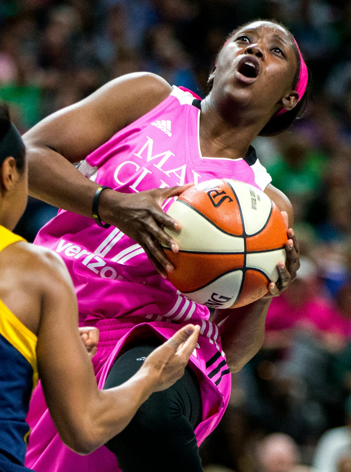
M 120 387 L 98 390 L 77 329 L 77 300 L 63 261 L 25 242 L 10 245 L 0 258 L 1 300 L 38 337 L 38 371 L 47 405 L 62 440 L 77 453 L 102 446 L 127 426 L 154 391 L 183 375 L 197 343 L 199 329 L 192 325 L 150 354 Z M 96 337 L 88 342 L 89 333 L 85 344 L 94 346 Z

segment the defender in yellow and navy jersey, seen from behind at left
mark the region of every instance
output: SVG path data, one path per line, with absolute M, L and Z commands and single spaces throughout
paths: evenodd
M 12 233 L 26 201 L 25 147 L 0 105 L 0 472 L 29 471 L 26 414 L 38 371 L 60 437 L 89 454 L 123 430 L 153 392 L 180 379 L 199 331 L 182 328 L 127 382 L 98 390 L 86 352 L 94 354 L 97 330 L 85 328 L 79 336 L 63 261 Z

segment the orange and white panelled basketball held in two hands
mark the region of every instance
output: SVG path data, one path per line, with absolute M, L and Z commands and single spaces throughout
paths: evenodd
M 164 248 L 171 283 L 194 302 L 234 308 L 261 298 L 286 260 L 286 227 L 277 206 L 252 185 L 207 180 L 183 192 L 167 213 L 181 225 L 167 229 L 180 251 Z

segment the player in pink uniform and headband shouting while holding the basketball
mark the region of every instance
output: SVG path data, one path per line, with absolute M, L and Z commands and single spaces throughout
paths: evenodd
M 100 329 L 93 359 L 99 387 L 128 379 L 179 325 L 201 328 L 183 378 L 152 395 L 124 431 L 90 456 L 62 445 L 37 388 L 27 454 L 37 472 L 98 472 L 101 464 L 105 472 L 202 471 L 197 445 L 224 413 L 230 371 L 256 354 L 269 297 L 296 276 L 291 203 L 270 184 L 250 143 L 282 132 L 302 113 L 308 71 L 300 50 L 282 25 L 244 25 L 219 52 L 208 83 L 211 91 L 200 101 L 152 74 L 122 76 L 25 135 L 30 193 L 62 209 L 36 243 L 66 262 L 80 325 Z M 269 284 L 268 296 L 216 310 L 210 321 L 207 307 L 181 295 L 155 268 L 164 276 L 172 270 L 160 243 L 178 250 L 162 230 L 175 222 L 159 206 L 167 211 L 173 198 L 161 202 L 161 192 L 218 177 L 264 190 L 290 229 L 286 264 L 278 264 L 280 278 Z M 220 294 L 209 305 L 220 307 Z

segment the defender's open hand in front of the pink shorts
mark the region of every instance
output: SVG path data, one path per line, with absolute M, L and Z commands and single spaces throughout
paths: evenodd
M 189 357 L 196 348 L 199 331 L 199 326 L 184 326 L 147 356 L 141 369 L 147 369 L 154 376 L 154 392 L 171 387 L 183 376 Z

